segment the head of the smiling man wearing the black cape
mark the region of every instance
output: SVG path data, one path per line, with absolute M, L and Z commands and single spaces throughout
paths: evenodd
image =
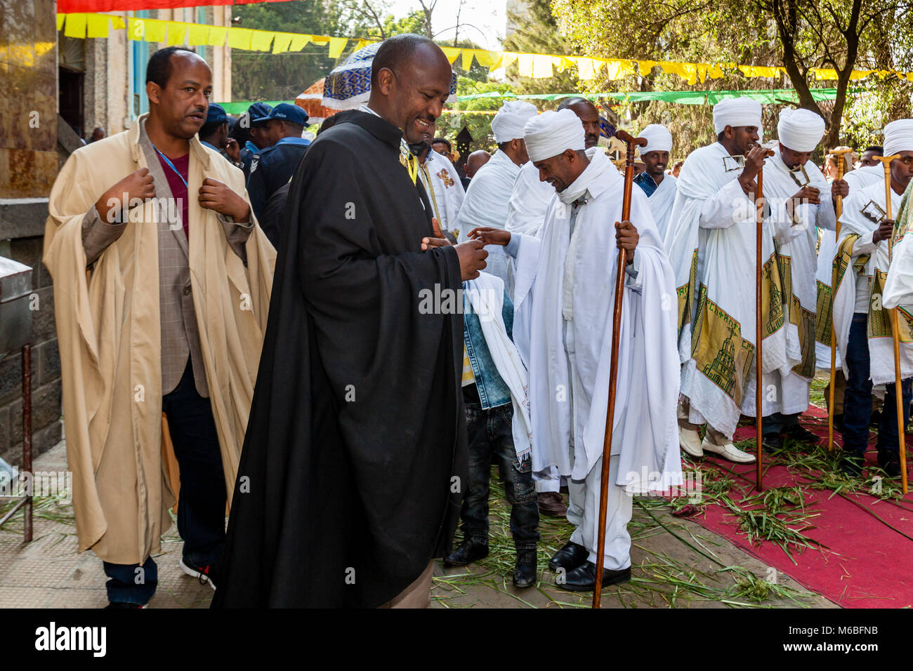
M 368 105 L 403 131 L 409 144 L 430 145 L 452 77 L 450 61 L 434 42 L 396 35 L 384 40 L 374 56 Z

